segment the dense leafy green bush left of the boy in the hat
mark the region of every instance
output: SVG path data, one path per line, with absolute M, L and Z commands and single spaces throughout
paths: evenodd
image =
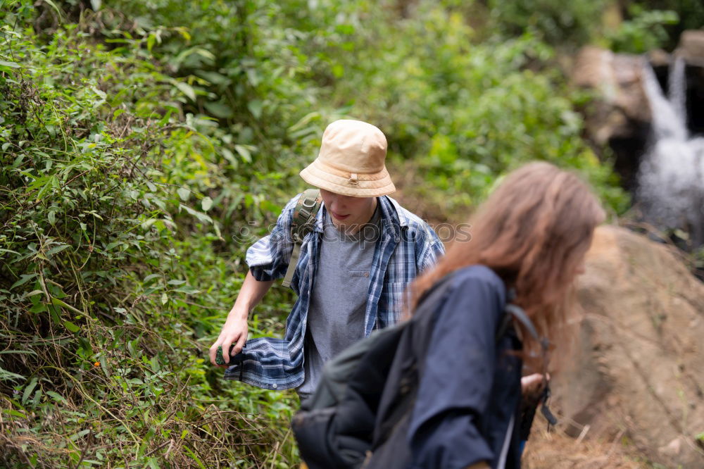
M 44 44 L 5 19 L 2 465 L 289 467 L 296 398 L 223 383 L 199 342 L 243 277 L 222 220 L 278 210 L 244 195 L 265 165 L 184 113 L 186 80 L 141 39 L 108 50 L 66 25 Z

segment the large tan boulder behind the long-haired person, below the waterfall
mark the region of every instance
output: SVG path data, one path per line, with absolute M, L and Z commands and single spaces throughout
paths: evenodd
M 601 227 L 578 295 L 574 367 L 553 389 L 567 432 L 704 467 L 704 284 L 667 246 Z

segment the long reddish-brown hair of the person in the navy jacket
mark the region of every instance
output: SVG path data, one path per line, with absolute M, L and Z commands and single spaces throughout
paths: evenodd
M 491 268 L 516 292 L 539 334 L 562 339 L 572 280 L 605 213 L 576 175 L 549 163 L 529 163 L 510 173 L 470 218 L 472 239 L 453 242 L 433 270 L 410 287 L 413 313 L 422 294 L 467 265 Z M 518 325 L 522 327 L 522 325 Z M 524 361 L 539 365 L 539 344 L 522 330 Z

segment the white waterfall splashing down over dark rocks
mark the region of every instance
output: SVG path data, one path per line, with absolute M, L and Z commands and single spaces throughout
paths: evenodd
M 696 247 L 704 244 L 704 138 L 689 138 L 687 132 L 684 71 L 677 58 L 665 97 L 653 68 L 643 65 L 653 136 L 641 160 L 636 197 L 646 221 L 663 230 L 687 230 Z

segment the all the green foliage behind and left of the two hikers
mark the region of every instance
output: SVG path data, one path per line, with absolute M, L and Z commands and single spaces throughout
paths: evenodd
M 295 465 L 295 393 L 225 382 L 206 350 L 327 123 L 379 126 L 432 220 L 534 159 L 622 213 L 562 58 L 704 23 L 696 0 L 1 4 L 5 467 Z M 292 300 L 272 289 L 251 333 L 281 334 Z

